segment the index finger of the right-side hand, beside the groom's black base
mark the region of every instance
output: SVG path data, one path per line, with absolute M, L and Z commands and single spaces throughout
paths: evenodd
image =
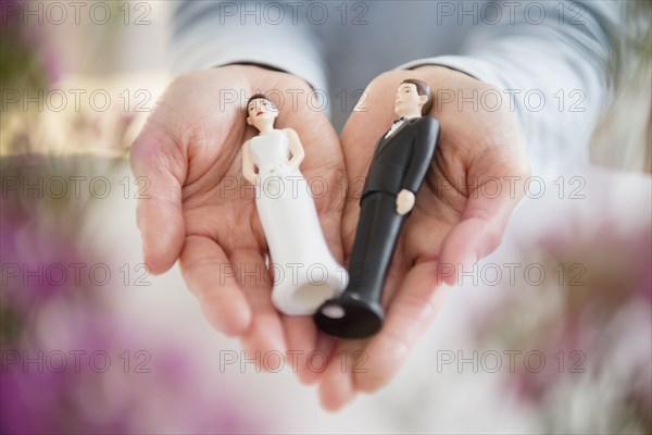
M 364 370 L 352 373 L 354 386 L 375 391 L 399 371 L 416 340 L 431 324 L 448 294 L 448 286 L 437 287 L 437 263 L 416 264 L 394 296 L 383 330 L 365 349 Z

